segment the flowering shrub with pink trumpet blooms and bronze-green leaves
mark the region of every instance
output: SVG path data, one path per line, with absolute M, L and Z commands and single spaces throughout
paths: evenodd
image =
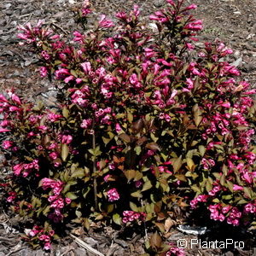
M 214 220 L 255 224 L 256 90 L 236 81 L 223 43 L 196 49 L 195 4 L 166 2 L 149 17 L 155 32 L 137 5 L 117 13 L 117 24 L 102 15 L 71 42 L 41 21 L 20 26 L 22 44 L 44 63 L 41 76 L 61 83 L 55 110 L 15 90 L 0 96 L 12 167 L 2 192 L 16 212 L 53 230 L 71 220 L 87 229 L 97 220 L 143 222 L 159 232 L 146 244 L 159 255 L 183 255 L 162 241 L 189 205 Z M 84 28 L 90 13 L 84 1 L 77 16 Z M 28 238 L 49 249 L 45 232 L 33 228 Z

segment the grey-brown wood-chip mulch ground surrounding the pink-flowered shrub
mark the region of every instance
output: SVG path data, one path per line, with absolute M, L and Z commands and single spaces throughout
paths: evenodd
M 78 29 L 73 21 L 72 8 L 82 0 L 2 0 L 0 3 L 0 92 L 15 87 L 28 100 L 41 99 L 47 104 L 54 104 L 55 91 L 47 79 L 38 75 L 36 56 L 20 48 L 16 38 L 16 26 L 26 22 L 35 24 L 39 19 L 45 20 L 57 32 Z M 230 62 L 241 70 L 241 78 L 256 84 L 256 0 L 188 0 L 195 3 L 198 9 L 195 17 L 203 20 L 204 31 L 200 41 L 213 41 L 218 38 L 234 50 Z M 161 9 L 163 0 L 91 0 L 96 14 L 113 16 L 117 10 L 129 11 L 137 3 L 143 17 Z M 56 26 L 57 24 L 57 26 Z M 230 233 L 229 233 L 230 232 Z M 233 232 L 233 234 L 231 234 Z M 243 230 L 212 229 L 209 237 L 231 237 L 234 235 L 246 241 L 244 249 L 207 250 L 200 247 L 186 250 L 187 255 L 256 255 L 255 233 Z M 96 248 L 103 255 L 140 255 L 144 253 L 144 236 L 131 236 L 130 239 L 119 238 L 119 234 L 105 228 L 101 232 L 84 234 L 76 230 L 75 235 Z M 238 236 L 239 235 L 239 236 Z M 55 245 L 51 253 L 43 250 L 32 251 L 20 241 L 20 220 L 11 218 L 4 212 L 0 215 L 0 256 L 4 255 L 95 255 L 80 247 L 71 236 Z M 172 230 L 170 241 L 190 240 L 197 236 L 186 235 L 177 229 Z

